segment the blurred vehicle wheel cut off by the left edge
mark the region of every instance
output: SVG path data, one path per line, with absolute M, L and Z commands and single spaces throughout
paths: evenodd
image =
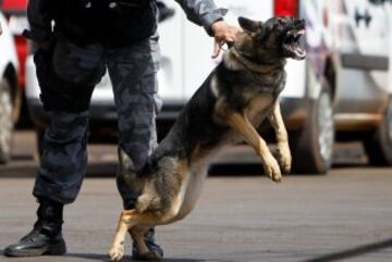
M 0 82 L 0 164 L 11 159 L 13 123 L 13 104 L 11 85 L 8 79 Z

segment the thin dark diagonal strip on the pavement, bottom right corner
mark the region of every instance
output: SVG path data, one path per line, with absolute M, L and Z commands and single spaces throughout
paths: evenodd
M 353 249 L 343 250 L 340 252 L 326 254 L 315 259 L 306 260 L 304 262 L 332 262 L 343 259 L 350 259 L 354 257 L 359 257 L 366 253 L 371 253 L 380 249 L 392 248 L 392 239 L 383 240 L 380 242 L 373 242 L 365 246 L 359 246 Z

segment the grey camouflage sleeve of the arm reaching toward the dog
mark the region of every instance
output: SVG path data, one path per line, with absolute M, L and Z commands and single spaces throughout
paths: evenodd
M 210 27 L 228 13 L 226 9 L 219 9 L 212 0 L 175 0 L 193 23 L 204 26 L 209 35 Z

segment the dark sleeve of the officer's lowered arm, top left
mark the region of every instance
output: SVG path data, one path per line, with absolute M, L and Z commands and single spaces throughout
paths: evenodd
M 51 21 L 53 18 L 53 0 L 29 0 L 27 18 L 30 30 L 24 35 L 34 41 L 44 41 L 50 38 Z

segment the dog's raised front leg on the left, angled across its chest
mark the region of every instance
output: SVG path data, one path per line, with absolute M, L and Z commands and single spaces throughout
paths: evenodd
M 229 125 L 240 133 L 261 158 L 267 175 L 274 182 L 281 182 L 282 174 L 277 160 L 271 154 L 267 142 L 260 137 L 248 118 L 237 112 L 226 113 L 225 118 Z

